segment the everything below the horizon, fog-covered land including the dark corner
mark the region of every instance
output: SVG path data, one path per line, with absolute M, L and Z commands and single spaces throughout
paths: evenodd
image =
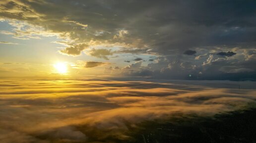
M 255 143 L 256 83 L 2 79 L 0 143 Z

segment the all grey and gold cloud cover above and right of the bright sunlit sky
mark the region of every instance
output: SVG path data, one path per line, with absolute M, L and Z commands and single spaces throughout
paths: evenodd
M 105 60 L 121 57 L 121 54 L 162 58 L 156 58 L 154 63 L 143 68 L 133 69 L 133 73 L 138 71 L 147 73 L 147 76 L 152 73 L 159 78 L 187 79 L 192 74 L 196 79 L 219 79 L 227 77 L 227 73 L 237 73 L 234 75 L 238 76 L 236 79 L 245 80 L 242 73 L 255 75 L 252 64 L 256 62 L 256 10 L 252 7 L 255 4 L 255 1 L 240 0 L 232 4 L 223 0 L 1 0 L 1 22 L 8 23 L 10 29 L 0 33 L 18 39 L 55 36 L 66 45 L 59 51 L 64 55 L 77 56 L 87 49 L 85 52 L 89 56 Z M 116 9 L 118 13 L 110 9 Z M 222 53 L 227 57 L 233 55 L 231 51 L 236 54 L 221 59 L 224 57 L 216 56 L 219 51 L 230 51 Z M 195 54 L 197 57 L 186 56 Z M 214 59 L 206 64 L 211 54 L 215 55 Z M 181 67 L 184 62 L 191 62 L 195 67 Z M 206 78 L 210 69 L 215 72 Z

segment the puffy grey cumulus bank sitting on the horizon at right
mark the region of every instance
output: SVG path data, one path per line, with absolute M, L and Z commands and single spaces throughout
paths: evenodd
M 250 52 L 249 52 L 250 51 Z M 201 57 L 163 56 L 155 63 L 133 71 L 133 76 L 150 76 L 155 79 L 218 79 L 218 80 L 256 80 L 255 50 L 237 50 L 235 56 L 225 58 L 214 54 Z M 208 57 L 207 57 L 208 56 Z M 247 58 L 250 57 L 250 60 Z

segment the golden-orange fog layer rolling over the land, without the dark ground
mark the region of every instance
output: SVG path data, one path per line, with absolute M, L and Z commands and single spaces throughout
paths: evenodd
M 79 78 L 0 83 L 2 143 L 126 142 L 145 121 L 209 117 L 256 104 L 255 83 L 248 81 Z

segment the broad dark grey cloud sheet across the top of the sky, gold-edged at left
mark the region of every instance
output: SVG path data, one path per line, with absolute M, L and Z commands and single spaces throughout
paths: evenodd
M 89 43 L 92 38 L 112 44 L 124 42 L 141 49 L 150 47 L 162 55 L 198 46 L 251 47 L 256 33 L 255 2 L 236 0 L 231 3 L 230 0 L 13 0 L 1 2 L 1 16 L 42 26 L 48 32 L 77 42 Z M 97 32 L 104 34 L 95 35 Z M 123 38 L 113 39 L 114 36 Z

